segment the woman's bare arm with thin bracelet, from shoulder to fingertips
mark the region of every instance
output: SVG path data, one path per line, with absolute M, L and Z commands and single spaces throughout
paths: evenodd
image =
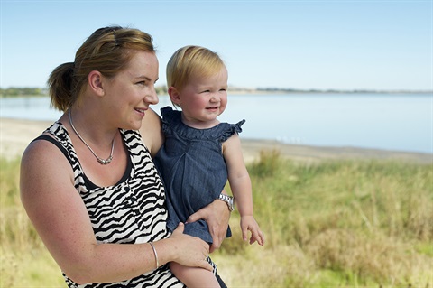
M 23 154 L 21 198 L 45 246 L 60 269 L 77 283 L 111 283 L 155 269 L 149 244 L 97 244 L 88 210 L 74 188 L 74 174 L 60 150 L 36 141 Z M 170 261 L 211 270 L 208 246 L 175 231 L 154 243 L 159 264 Z

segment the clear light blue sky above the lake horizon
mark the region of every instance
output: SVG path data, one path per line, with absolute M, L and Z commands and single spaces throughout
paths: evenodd
M 97 28 L 150 33 L 160 80 L 185 45 L 217 51 L 229 87 L 433 89 L 433 0 L 0 0 L 0 88 L 46 88 Z

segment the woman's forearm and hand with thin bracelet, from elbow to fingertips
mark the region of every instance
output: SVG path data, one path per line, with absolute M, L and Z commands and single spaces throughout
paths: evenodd
M 143 244 L 99 244 L 73 265 L 62 267 L 76 283 L 114 283 L 146 274 L 169 262 L 201 267 L 212 271 L 207 263 L 208 245 L 198 237 L 183 234 L 183 226 L 172 237 Z M 156 254 L 155 254 L 156 252 Z M 84 256 L 83 256 L 84 255 Z

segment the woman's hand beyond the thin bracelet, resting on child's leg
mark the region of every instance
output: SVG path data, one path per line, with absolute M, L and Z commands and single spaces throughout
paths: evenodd
M 185 226 L 180 223 L 173 231 L 170 239 L 175 240 L 177 257 L 175 262 L 189 267 L 200 267 L 212 271 L 212 266 L 207 263 L 209 245 L 198 237 L 183 234 Z

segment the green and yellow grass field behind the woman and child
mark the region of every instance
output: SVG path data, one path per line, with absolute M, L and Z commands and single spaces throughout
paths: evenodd
M 66 286 L 21 206 L 19 160 L 0 169 L 0 287 Z M 267 243 L 243 243 L 233 213 L 234 236 L 212 255 L 229 287 L 433 287 L 431 164 L 268 151 L 248 170 Z

